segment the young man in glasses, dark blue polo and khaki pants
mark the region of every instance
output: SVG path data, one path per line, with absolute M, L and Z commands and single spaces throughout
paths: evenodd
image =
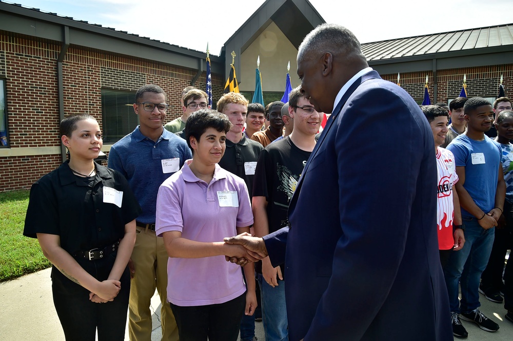
M 192 153 L 185 140 L 163 127 L 168 105 L 164 90 L 145 85 L 137 90 L 133 109 L 140 125 L 116 142 L 109 152 L 109 168 L 121 172 L 139 201 L 137 237 L 131 265 L 130 340 L 151 338 L 150 299 L 159 292 L 162 302 L 162 339 L 178 340 L 178 328 L 167 303 L 167 252 L 162 238 L 155 235 L 155 210 L 159 186 L 182 168 Z

